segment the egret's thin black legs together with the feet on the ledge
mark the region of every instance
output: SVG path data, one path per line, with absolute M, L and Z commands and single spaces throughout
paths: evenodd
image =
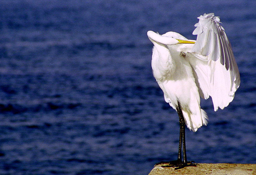
M 174 167 L 175 170 L 184 168 L 186 166 L 197 166 L 196 164 L 187 161 L 187 154 L 186 154 L 186 140 L 185 140 L 185 119 L 182 113 L 181 105 L 179 100 L 178 101 L 178 106 L 176 106 L 177 113 L 179 115 L 179 121 L 180 121 L 180 141 L 179 141 L 179 152 L 178 152 L 178 159 L 174 161 L 169 161 L 169 162 L 159 162 L 156 165 L 160 164 L 168 164 L 168 165 L 162 165 L 162 167 Z M 183 162 L 182 162 L 182 144 L 183 144 Z M 155 166 L 156 166 L 155 165 Z

